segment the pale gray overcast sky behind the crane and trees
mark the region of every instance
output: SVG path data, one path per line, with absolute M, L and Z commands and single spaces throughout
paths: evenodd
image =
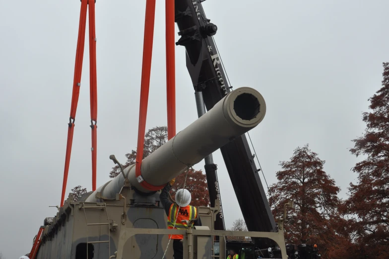
M 279 161 L 309 143 L 346 197 L 358 161 L 348 148 L 363 133 L 361 113 L 389 61 L 389 2 L 203 6 L 218 25 L 232 86 L 254 87 L 265 98 L 267 114 L 251 137 L 267 181 L 275 182 Z M 57 212 L 48 206 L 60 203 L 79 7 L 79 0 L 0 0 L 0 251 L 7 259 L 30 252 L 44 218 Z M 96 3 L 98 186 L 109 179 L 109 155 L 123 163 L 136 146 L 144 8 L 145 1 Z M 164 1 L 156 9 L 147 129 L 166 125 Z M 88 53 L 86 40 L 67 192 L 78 184 L 91 189 Z M 197 116 L 184 47 L 176 47 L 176 85 L 179 131 Z M 242 215 L 220 152 L 214 160 L 230 227 Z

